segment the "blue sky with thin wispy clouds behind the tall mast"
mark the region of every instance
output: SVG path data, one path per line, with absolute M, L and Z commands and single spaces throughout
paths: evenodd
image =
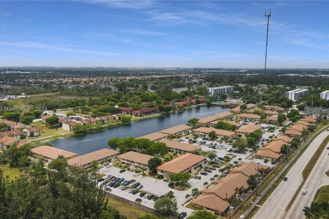
M 0 66 L 329 68 L 328 1 L 0 1 Z

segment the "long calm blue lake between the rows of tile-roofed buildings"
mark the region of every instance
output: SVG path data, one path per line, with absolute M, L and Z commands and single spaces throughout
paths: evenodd
M 135 136 L 137 138 L 175 125 L 186 124 L 188 120 L 194 117 L 202 118 L 227 110 L 221 107 L 193 108 L 176 114 L 166 114 L 155 118 L 134 121 L 131 124 L 88 133 L 84 136 L 59 138 L 52 140 L 51 144 L 58 149 L 84 155 L 99 149 L 108 148 L 107 142 L 110 138 L 127 136 Z

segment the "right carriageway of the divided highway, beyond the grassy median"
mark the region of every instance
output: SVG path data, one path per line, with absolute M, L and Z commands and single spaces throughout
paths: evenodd
M 300 192 L 297 195 L 285 218 L 305 218 L 303 207 L 310 207 L 310 203 L 312 203 L 318 188 L 323 185 L 329 185 L 329 177 L 326 175 L 326 171 L 329 170 L 329 150 L 327 146 L 304 183 L 302 190 L 307 190 L 307 194 L 302 195 Z

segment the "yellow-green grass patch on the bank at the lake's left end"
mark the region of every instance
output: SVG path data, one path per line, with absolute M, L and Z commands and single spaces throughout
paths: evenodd
M 62 127 L 49 127 L 45 123 L 42 123 L 42 121 L 32 123 L 32 126 L 36 126 L 40 129 L 41 135 L 38 137 L 32 137 L 28 138 L 27 140 L 35 141 L 38 139 L 43 139 L 43 138 L 51 138 L 51 137 L 60 137 L 60 136 L 69 136 L 73 134 L 72 131 L 66 131 L 62 129 Z

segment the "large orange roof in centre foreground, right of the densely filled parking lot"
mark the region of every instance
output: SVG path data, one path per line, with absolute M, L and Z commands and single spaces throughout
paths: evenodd
M 163 170 L 171 173 L 183 172 L 191 166 L 198 164 L 206 159 L 204 156 L 194 155 L 192 153 L 186 153 L 180 157 L 172 159 L 170 162 L 164 163 L 156 168 L 157 170 Z

